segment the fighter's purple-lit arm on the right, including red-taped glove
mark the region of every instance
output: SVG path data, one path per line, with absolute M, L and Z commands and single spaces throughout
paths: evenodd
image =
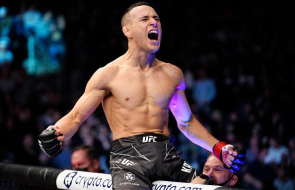
M 245 160 L 245 150 L 235 145 L 220 142 L 212 136 L 192 114 L 184 90 L 185 81 L 182 77 L 169 104 L 179 130 L 193 143 L 213 152 L 231 172 L 240 169 Z

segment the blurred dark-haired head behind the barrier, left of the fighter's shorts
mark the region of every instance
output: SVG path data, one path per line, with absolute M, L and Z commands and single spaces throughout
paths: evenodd
M 70 158 L 72 169 L 88 172 L 104 171 L 99 167 L 99 157 L 93 146 L 79 145 L 72 151 Z

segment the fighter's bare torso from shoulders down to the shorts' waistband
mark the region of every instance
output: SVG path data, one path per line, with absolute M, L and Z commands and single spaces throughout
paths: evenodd
M 180 69 L 156 61 L 145 71 L 117 62 L 106 65 L 116 67 L 102 101 L 113 139 L 143 132 L 168 135 L 169 102 L 180 80 L 173 72 Z

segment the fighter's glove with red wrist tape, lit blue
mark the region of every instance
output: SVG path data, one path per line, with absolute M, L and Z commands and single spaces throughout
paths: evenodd
M 225 142 L 217 142 L 213 146 L 213 154 L 223 162 L 222 160 L 222 152 L 227 151 L 227 147 L 230 144 L 226 144 Z M 238 171 L 244 164 L 245 158 L 246 158 L 246 150 L 244 150 L 242 147 L 232 145 L 233 146 L 233 151 L 237 152 L 237 155 L 234 156 L 234 160 L 231 160 L 232 163 L 230 164 L 230 167 L 227 167 L 227 165 L 223 162 L 224 168 L 228 169 L 232 173 L 235 173 Z

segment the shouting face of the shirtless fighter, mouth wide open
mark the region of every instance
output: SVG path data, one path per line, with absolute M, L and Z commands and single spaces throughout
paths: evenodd
M 159 49 L 162 29 L 159 16 L 152 7 L 134 7 L 127 15 L 127 25 L 137 46 L 147 52 Z

